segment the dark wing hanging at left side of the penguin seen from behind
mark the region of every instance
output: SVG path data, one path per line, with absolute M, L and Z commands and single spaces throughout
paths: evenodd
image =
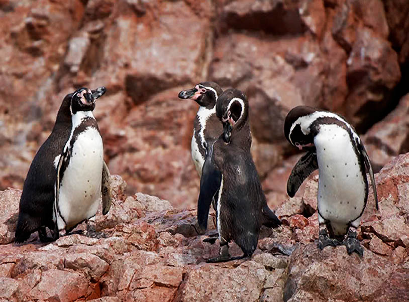
M 199 227 L 206 230 L 212 198 L 218 192 L 222 182 L 222 173 L 216 167 L 213 160 L 213 145 L 207 153 L 205 163 L 201 171 L 200 193 L 197 200 L 197 222 Z M 220 201 L 219 201 L 220 202 Z

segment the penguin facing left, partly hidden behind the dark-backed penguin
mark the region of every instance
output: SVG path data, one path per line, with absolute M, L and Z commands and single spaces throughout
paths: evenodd
M 202 82 L 192 89 L 182 90 L 178 97 L 192 99 L 200 107 L 193 121 L 191 156 L 199 177 L 206 160 L 206 148 L 213 144 L 223 132 L 223 125 L 216 116 L 216 101 L 223 92 L 215 82 Z

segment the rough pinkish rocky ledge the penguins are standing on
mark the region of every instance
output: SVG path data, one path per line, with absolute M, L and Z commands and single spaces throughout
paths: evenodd
M 141 193 L 126 196 L 113 176 L 115 200 L 98 214 L 107 238 L 74 234 L 42 244 L 32 235 L 13 243 L 21 191 L 0 192 L 0 301 L 409 301 L 409 154 L 377 175 L 379 211 L 369 192 L 361 227 L 364 256 L 344 246 L 320 251 L 317 176 L 302 197 L 276 214 L 284 225 L 263 228 L 251 259 L 208 264 L 218 244 L 214 233 L 196 232 L 195 210 Z M 82 226 L 83 227 L 83 226 Z M 233 244 L 233 255 L 240 249 Z

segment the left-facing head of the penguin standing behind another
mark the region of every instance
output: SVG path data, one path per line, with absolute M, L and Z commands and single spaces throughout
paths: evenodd
M 180 91 L 178 97 L 182 99 L 192 99 L 200 106 L 212 109 L 222 92 L 222 88 L 220 88 L 217 83 L 202 82 L 192 89 Z

